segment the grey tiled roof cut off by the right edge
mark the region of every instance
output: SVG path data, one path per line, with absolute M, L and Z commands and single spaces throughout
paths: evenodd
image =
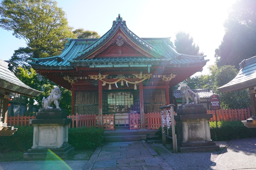
M 231 92 L 256 86 L 256 56 L 243 60 L 240 71 L 229 83 L 219 87 L 219 92 Z

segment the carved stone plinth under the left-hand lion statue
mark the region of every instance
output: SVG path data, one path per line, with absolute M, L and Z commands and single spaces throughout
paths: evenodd
M 56 155 L 67 158 L 74 152 L 74 147 L 68 143 L 71 122 L 63 109 L 40 109 L 36 119 L 30 119 L 34 126 L 33 146 L 24 153 L 24 159 L 58 159 Z

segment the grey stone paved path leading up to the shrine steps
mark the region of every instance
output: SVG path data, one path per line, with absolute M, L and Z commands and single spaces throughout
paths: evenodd
M 98 147 L 84 170 L 172 170 L 142 141 L 108 142 Z

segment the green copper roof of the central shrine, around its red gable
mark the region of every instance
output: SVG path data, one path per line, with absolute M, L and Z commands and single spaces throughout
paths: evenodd
M 94 57 L 86 59 L 91 53 L 102 47 L 118 29 L 128 36 L 140 48 L 148 51 L 154 58 L 149 57 Z M 73 66 L 111 65 L 111 63 L 146 63 L 153 65 L 168 65 L 170 67 L 189 67 L 195 63 L 207 62 L 205 56 L 190 56 L 179 54 L 174 50 L 170 38 L 139 38 L 126 26 L 119 17 L 113 21 L 111 29 L 99 39 L 67 39 L 64 50 L 59 56 L 43 59 L 32 59 L 30 64 L 38 69 L 74 69 Z

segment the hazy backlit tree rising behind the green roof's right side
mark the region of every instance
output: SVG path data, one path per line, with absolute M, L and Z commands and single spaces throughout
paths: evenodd
M 187 54 L 192 56 L 203 56 L 203 52 L 199 52 L 199 46 L 194 43 L 189 33 L 178 32 L 176 33 L 176 39 L 174 40 L 175 50 L 181 54 Z

